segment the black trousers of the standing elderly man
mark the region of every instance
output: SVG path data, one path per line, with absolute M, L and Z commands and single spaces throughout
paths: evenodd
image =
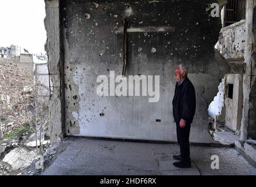
M 177 127 L 177 140 L 179 148 L 181 150 L 181 161 L 190 162 L 190 150 L 189 150 L 189 133 L 191 124 L 186 123 L 185 127 L 180 127 L 179 123 L 176 123 Z

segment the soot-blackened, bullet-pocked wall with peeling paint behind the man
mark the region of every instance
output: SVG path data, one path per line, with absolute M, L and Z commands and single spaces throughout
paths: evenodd
M 207 108 L 222 78 L 214 51 L 221 20 L 206 14 L 202 1 L 66 0 L 61 1 L 60 11 L 66 134 L 176 141 L 174 69 L 184 63 L 197 100 L 190 140 L 213 142 Z M 99 75 L 122 74 L 123 18 L 134 31 L 128 33 L 126 75 L 160 75 L 157 103 L 148 103 L 147 96 L 96 95 Z M 141 29 L 148 27 L 158 31 Z M 172 29 L 164 31 L 163 27 Z

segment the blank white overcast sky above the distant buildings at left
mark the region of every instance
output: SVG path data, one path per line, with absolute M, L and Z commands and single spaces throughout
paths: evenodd
M 45 53 L 44 0 L 0 0 L 0 46 Z

